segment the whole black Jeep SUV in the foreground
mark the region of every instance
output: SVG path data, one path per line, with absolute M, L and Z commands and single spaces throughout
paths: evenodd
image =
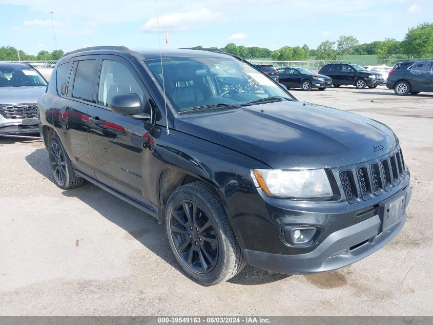
M 247 262 L 334 270 L 406 221 L 409 171 L 393 131 L 299 102 L 228 54 L 73 51 L 38 108 L 57 186 L 86 179 L 156 217 L 181 269 L 204 285 Z

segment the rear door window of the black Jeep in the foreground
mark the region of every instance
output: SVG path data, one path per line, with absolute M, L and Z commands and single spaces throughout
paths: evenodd
M 72 97 L 92 101 L 92 84 L 95 76 L 96 60 L 83 60 L 78 62 L 77 71 L 75 73 L 74 87 Z

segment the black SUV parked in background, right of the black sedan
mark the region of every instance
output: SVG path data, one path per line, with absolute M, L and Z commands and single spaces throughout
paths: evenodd
M 341 85 L 354 85 L 358 89 L 376 88 L 383 84 L 383 77 L 380 73 L 367 71 L 364 67 L 350 63 L 325 64 L 320 68 L 319 74 L 332 78 L 334 87 Z

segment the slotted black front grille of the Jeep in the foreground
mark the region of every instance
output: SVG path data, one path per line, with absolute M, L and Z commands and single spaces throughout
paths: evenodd
M 339 172 L 341 187 L 350 203 L 382 195 L 397 186 L 406 174 L 400 148 L 384 159 Z

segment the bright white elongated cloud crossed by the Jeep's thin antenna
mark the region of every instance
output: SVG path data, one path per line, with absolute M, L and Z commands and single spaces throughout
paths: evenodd
M 165 16 L 159 17 L 160 30 L 186 30 L 205 22 L 210 22 L 216 18 L 216 15 L 207 8 L 200 10 L 191 10 L 187 12 L 175 12 Z M 151 18 L 146 22 L 142 31 L 156 31 L 157 21 L 156 18 Z

